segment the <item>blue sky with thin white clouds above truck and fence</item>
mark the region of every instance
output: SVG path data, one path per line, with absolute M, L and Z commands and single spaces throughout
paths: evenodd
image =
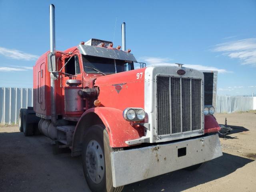
M 50 3 L 58 50 L 90 38 L 121 45 L 126 22 L 137 60 L 219 70 L 218 94 L 256 93 L 255 0 L 0 0 L 0 86 L 32 87 L 32 66 L 49 50 Z

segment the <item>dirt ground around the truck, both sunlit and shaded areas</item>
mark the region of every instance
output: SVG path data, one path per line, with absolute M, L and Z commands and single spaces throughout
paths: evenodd
M 256 113 L 217 114 L 234 130 L 220 138 L 223 156 L 194 172 L 178 170 L 136 182 L 124 192 L 255 192 Z M 0 192 L 89 192 L 81 157 L 54 155 L 44 136 L 25 137 L 17 126 L 0 127 Z

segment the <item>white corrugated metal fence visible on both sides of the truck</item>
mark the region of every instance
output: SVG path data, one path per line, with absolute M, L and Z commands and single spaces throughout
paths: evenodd
M 0 87 L 1 124 L 18 123 L 20 108 L 33 106 L 32 88 Z M 217 96 L 217 113 L 233 113 L 256 109 L 256 97 Z

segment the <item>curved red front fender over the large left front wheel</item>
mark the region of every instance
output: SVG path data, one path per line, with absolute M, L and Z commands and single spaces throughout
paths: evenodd
M 86 127 L 87 125 L 82 124 L 86 122 L 84 119 L 89 117 L 88 115 L 92 113 L 96 114 L 104 124 L 106 131 L 108 132 L 110 147 L 126 147 L 129 145 L 127 145 L 125 141 L 144 136 L 144 128 L 134 126 L 130 122 L 124 120 L 123 112 L 121 110 L 110 107 L 96 107 L 90 108 L 82 114 L 76 125 L 73 137 L 74 139 L 76 138 L 76 132 L 78 132 L 78 129 L 81 129 L 81 127 L 84 129 L 88 128 Z M 98 122 L 91 122 L 90 126 L 97 123 Z M 80 134 L 81 133 L 82 132 L 80 132 Z

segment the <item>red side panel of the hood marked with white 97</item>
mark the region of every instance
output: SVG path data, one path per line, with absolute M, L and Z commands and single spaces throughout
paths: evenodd
M 98 99 L 102 106 L 124 110 L 127 107 L 144 108 L 144 72 L 146 68 L 101 76 L 95 80 L 100 89 Z M 139 74 L 139 76 L 137 76 Z M 120 90 L 116 90 L 119 85 Z

